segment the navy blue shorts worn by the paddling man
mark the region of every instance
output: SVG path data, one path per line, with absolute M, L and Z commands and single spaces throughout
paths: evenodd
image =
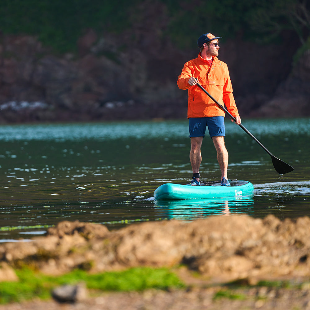
M 224 116 L 190 117 L 188 122 L 190 137 L 204 137 L 207 126 L 211 138 L 214 136 L 225 137 Z

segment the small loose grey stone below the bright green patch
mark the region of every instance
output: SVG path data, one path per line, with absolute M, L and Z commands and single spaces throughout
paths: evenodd
M 84 283 L 79 283 L 77 285 L 59 286 L 52 290 L 51 294 L 58 302 L 74 303 L 86 299 L 87 290 Z

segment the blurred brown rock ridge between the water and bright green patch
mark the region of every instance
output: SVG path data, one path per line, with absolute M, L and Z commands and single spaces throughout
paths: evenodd
M 30 266 L 53 275 L 75 268 L 103 272 L 185 264 L 208 282 L 247 279 L 255 284 L 309 277 L 309 236 L 308 217 L 280 221 L 272 215 L 233 215 L 190 223 L 145 222 L 111 232 L 100 224 L 65 221 L 45 237 L 0 245 L 0 259 L 14 268 Z

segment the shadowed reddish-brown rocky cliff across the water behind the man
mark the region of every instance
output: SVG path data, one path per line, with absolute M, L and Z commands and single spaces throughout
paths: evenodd
M 287 43 L 221 43 L 242 117 L 309 115 L 310 52 L 292 68 L 296 47 Z M 2 34 L 0 122 L 186 118 L 176 80 L 196 42 L 180 50 L 146 24 L 118 37 L 88 29 L 77 46 L 55 55 L 35 37 Z

